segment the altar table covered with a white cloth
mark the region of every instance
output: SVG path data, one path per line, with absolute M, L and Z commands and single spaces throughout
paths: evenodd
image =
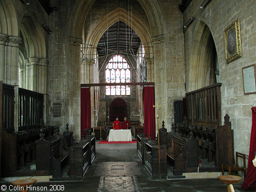
M 131 130 L 110 130 L 108 141 L 132 141 Z

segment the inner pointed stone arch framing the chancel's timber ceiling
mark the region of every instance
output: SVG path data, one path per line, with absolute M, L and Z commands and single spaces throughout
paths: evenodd
M 105 17 L 98 23 L 97 26 L 94 27 L 92 30 L 91 36 L 87 36 L 84 38 L 84 41 L 87 44 L 88 48 L 91 48 L 89 45 L 92 45 L 92 47 L 97 47 L 97 44 L 100 40 L 100 37 L 102 36 L 103 33 L 115 22 L 118 20 L 123 21 L 126 23 L 126 25 L 131 26 L 132 29 L 138 34 L 138 36 L 141 39 L 142 43 L 148 43 L 147 46 L 145 47 L 145 52 L 146 52 L 146 58 L 153 57 L 153 55 L 150 55 L 149 53 L 153 53 L 153 49 L 151 48 L 153 44 L 151 43 L 151 34 L 145 27 L 143 27 L 143 24 L 139 20 L 139 18 L 136 15 L 133 15 L 132 18 L 132 23 L 131 19 L 129 20 L 130 22 L 127 23 L 127 18 L 131 18 L 131 13 L 128 14 L 126 10 L 124 10 L 122 7 L 118 7 L 115 10 L 110 11 Z M 106 21 L 108 20 L 109 25 L 106 25 Z M 96 51 L 96 49 L 87 49 L 89 52 L 87 52 L 88 55 L 93 55 Z M 93 59 L 93 58 L 91 58 Z

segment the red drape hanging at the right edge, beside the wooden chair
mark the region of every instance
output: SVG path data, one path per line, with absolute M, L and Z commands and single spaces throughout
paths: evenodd
M 256 167 L 253 166 L 252 160 L 255 157 L 256 151 L 256 107 L 252 107 L 252 131 L 250 140 L 250 151 L 247 165 L 246 178 L 243 182 L 242 189 L 252 190 L 256 189 Z

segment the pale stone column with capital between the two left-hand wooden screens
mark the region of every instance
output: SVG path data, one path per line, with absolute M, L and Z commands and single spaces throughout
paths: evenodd
M 7 44 L 6 57 L 6 73 L 5 79 L 7 84 L 14 85 L 14 130 L 18 131 L 18 112 L 19 112 L 19 60 L 18 49 L 21 38 L 17 36 L 9 36 Z

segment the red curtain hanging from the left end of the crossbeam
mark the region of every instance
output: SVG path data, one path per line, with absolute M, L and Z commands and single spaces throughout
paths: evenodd
M 81 139 L 84 130 L 91 127 L 91 91 L 90 87 L 81 88 Z

